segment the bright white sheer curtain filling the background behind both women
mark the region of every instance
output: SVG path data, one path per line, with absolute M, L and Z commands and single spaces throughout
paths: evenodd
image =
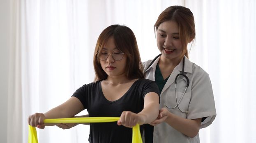
M 201 142 L 256 141 L 254 0 L 11 0 L 7 142 L 26 143 L 28 115 L 48 111 L 93 81 L 93 51 L 107 26 L 130 27 L 142 61 L 157 56 L 153 25 L 171 5 L 194 13 L 189 58 L 212 81 L 217 117 L 200 130 Z M 39 143 L 86 143 L 89 126 L 37 132 Z

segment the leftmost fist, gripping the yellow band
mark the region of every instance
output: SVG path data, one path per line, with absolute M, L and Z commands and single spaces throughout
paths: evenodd
M 44 129 L 44 119 L 45 116 L 43 113 L 35 113 L 28 116 L 28 124 L 33 127 L 38 127 L 40 129 Z

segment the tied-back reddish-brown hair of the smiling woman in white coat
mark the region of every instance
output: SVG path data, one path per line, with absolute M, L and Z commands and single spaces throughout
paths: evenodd
M 182 6 L 167 7 L 158 17 L 154 25 L 157 31 L 159 25 L 165 21 L 173 20 L 179 27 L 179 36 L 182 43 L 182 53 L 188 58 L 187 44 L 196 37 L 195 21 L 190 9 Z

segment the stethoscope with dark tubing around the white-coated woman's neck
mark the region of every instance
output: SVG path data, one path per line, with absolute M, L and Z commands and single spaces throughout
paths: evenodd
M 156 60 L 159 56 L 161 56 L 161 55 L 162 55 L 162 54 L 159 54 L 158 56 L 156 56 L 156 57 L 154 58 L 154 60 L 152 60 L 152 62 L 149 64 L 148 68 L 149 68 L 149 67 L 155 62 L 155 60 Z M 181 72 L 180 74 L 177 74 L 177 76 L 175 77 L 175 80 L 174 80 L 174 85 L 175 85 L 175 97 L 176 97 L 176 106 L 175 106 L 175 107 L 168 107 L 167 105 L 165 105 L 165 107 L 167 107 L 168 109 L 174 109 L 174 108 L 178 107 L 178 109 L 179 109 L 181 112 L 183 112 L 183 113 L 188 113 L 188 111 L 183 111 L 183 110 L 181 110 L 180 107 L 179 107 L 180 101 L 182 100 L 184 94 L 187 92 L 187 88 L 189 87 L 189 78 L 188 78 L 188 77 L 185 75 L 185 73 L 184 73 L 184 66 L 185 66 L 185 56 L 183 57 L 182 72 Z M 148 68 L 147 68 L 146 70 L 148 70 Z M 145 71 L 146 71 L 146 70 L 145 70 Z M 184 78 L 179 78 L 179 79 L 185 80 L 185 82 L 187 83 L 187 85 L 186 85 L 186 88 L 185 88 L 185 90 L 184 90 L 182 96 L 180 97 L 179 102 L 178 102 L 178 98 L 177 98 L 177 79 L 178 79 L 178 77 L 180 77 L 180 76 L 183 76 L 183 77 L 186 78 L 186 80 L 185 80 Z

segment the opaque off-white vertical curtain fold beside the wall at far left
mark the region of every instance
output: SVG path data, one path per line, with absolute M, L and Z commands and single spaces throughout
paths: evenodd
M 21 45 L 22 37 L 22 7 L 21 3 L 11 0 L 11 43 L 9 49 L 9 85 L 7 104 L 7 142 L 18 143 L 23 139 L 22 118 L 22 76 L 21 76 Z M 16 129 L 16 130 L 14 130 Z

